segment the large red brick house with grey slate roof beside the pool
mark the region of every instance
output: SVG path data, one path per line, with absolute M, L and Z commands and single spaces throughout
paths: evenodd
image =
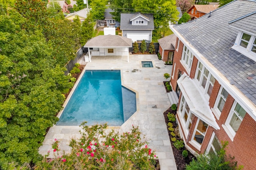
M 177 121 L 186 148 L 220 149 L 256 169 L 256 1 L 235 0 L 211 14 L 172 26 L 171 73 L 179 94 Z

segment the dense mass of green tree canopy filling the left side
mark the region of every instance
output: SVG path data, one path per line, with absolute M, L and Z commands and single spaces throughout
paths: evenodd
M 0 1 L 2 170 L 42 159 L 38 147 L 73 86 L 64 65 L 75 57 L 81 38 L 77 22 L 55 17 L 41 0 L 8 6 Z

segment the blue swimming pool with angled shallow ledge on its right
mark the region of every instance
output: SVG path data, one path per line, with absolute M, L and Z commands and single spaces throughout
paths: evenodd
M 135 112 L 136 94 L 122 87 L 120 70 L 86 70 L 56 125 L 120 126 Z

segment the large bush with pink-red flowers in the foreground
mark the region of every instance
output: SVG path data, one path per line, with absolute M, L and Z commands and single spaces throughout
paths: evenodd
M 157 157 L 145 138 L 141 138 L 138 127 L 132 126 L 130 132 L 122 134 L 106 127 L 84 126 L 82 137 L 71 140 L 70 154 L 60 156 L 56 151 L 55 158 L 49 159 L 48 153 L 35 169 L 155 169 Z

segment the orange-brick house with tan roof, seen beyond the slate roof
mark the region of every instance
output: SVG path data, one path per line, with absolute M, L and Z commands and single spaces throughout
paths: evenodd
M 216 10 L 218 6 L 220 5 L 193 5 L 187 13 L 190 15 L 191 20 L 194 20 Z

